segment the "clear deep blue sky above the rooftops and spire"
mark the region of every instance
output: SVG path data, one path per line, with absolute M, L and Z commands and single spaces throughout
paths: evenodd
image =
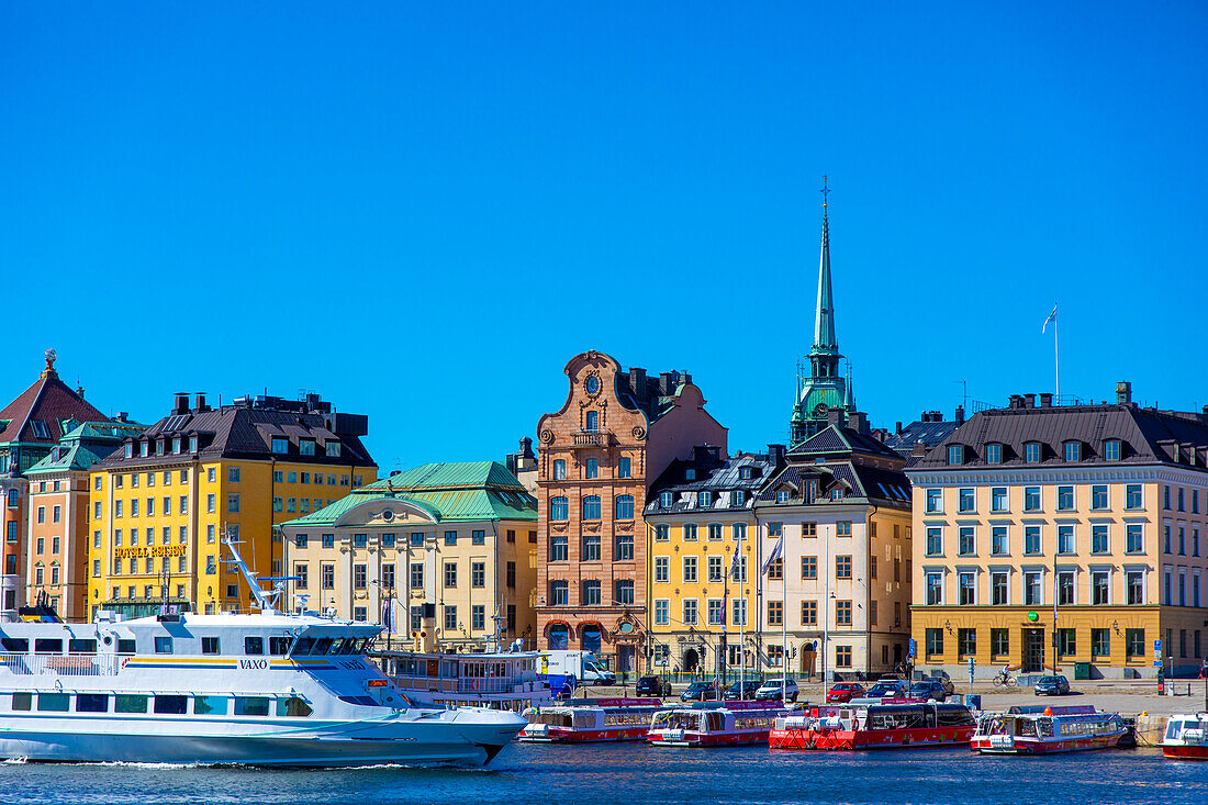
M 1197 4 L 6 4 L 0 398 L 58 349 L 498 458 L 597 348 L 783 440 L 821 175 L 875 424 L 1062 389 L 1208 404 Z M 255 6 L 249 8 L 248 6 Z

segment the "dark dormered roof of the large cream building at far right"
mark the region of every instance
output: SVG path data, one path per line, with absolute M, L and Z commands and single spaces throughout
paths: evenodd
M 1119 461 L 1104 458 L 1109 440 L 1121 442 Z M 1069 465 L 1063 445 L 1081 444 L 1084 464 L 1190 464 L 1208 467 L 1208 421 L 1194 413 L 1142 409 L 1133 404 L 1014 407 L 980 411 L 912 469 L 948 467 L 947 447 L 965 447 L 964 465 L 985 467 L 986 445 L 1003 446 L 1003 467 L 1024 464 L 1024 445 L 1039 442 L 1044 465 Z

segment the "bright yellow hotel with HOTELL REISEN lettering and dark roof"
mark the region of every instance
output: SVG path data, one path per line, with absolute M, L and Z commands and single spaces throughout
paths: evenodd
M 237 399 L 211 409 L 178 394 L 172 413 L 93 465 L 88 603 L 127 615 L 167 602 L 186 610 L 246 609 L 250 591 L 222 546 L 278 575 L 294 520 L 371 482 L 367 419 L 318 395 Z

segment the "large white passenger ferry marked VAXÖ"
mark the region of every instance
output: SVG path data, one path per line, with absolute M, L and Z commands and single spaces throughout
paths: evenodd
M 0 625 L 0 757 L 355 766 L 481 765 L 515 713 L 416 706 L 365 656 L 378 626 L 273 608 Z

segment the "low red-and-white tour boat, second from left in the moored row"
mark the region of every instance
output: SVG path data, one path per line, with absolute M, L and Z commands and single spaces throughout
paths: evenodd
M 780 702 L 699 702 L 655 714 L 646 740 L 655 746 L 738 746 L 767 743 L 776 719 L 788 714 Z

